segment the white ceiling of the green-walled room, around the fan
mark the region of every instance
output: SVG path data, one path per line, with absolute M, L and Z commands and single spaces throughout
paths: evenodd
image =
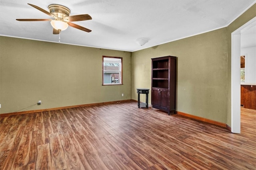
M 71 10 L 70 16 L 92 17 L 74 22 L 92 32 L 68 27 L 61 43 L 138 51 L 225 27 L 256 0 L 0 0 L 0 35 L 58 43 L 50 21 L 16 21 L 53 19 L 28 3 L 47 11 L 50 4 L 60 4 Z M 141 37 L 148 43 L 138 45 Z

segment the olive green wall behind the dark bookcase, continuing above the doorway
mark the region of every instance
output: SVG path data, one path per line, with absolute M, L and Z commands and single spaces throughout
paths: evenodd
M 228 27 L 133 52 L 132 99 L 151 87 L 151 58 L 176 56 L 177 111 L 231 126 L 231 33 L 255 16 L 256 4 Z

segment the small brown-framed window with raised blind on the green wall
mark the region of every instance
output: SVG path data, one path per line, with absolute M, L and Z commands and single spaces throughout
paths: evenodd
M 103 56 L 102 85 L 122 84 L 122 57 Z

